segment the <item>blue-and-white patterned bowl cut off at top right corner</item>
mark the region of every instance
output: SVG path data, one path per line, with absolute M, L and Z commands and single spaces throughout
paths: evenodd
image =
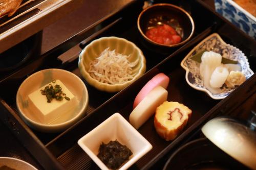
M 256 39 L 256 17 L 244 10 L 232 0 L 215 0 L 215 10 L 243 30 L 246 34 Z

